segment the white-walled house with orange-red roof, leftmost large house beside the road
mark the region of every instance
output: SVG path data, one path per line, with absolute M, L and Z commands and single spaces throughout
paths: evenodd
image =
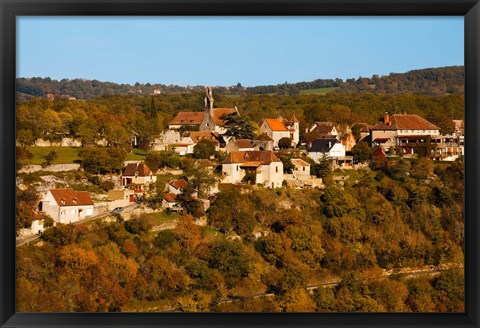
M 39 204 L 39 210 L 55 222 L 77 222 L 93 215 L 93 201 L 86 191 L 50 189 Z

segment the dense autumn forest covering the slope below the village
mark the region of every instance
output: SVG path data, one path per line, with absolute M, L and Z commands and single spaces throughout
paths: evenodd
M 338 174 L 324 190 L 223 186 L 207 227 L 58 224 L 17 248 L 17 311 L 463 311 L 463 162 Z M 395 274 L 424 265 L 451 268 Z

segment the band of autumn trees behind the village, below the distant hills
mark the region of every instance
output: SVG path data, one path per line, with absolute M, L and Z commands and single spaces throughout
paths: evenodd
M 384 112 L 420 115 L 439 126 L 442 133 L 453 131 L 452 119 L 464 117 L 462 94 L 217 95 L 216 106 L 237 106 L 241 116 L 254 127 L 263 118 L 295 115 L 300 121 L 302 138 L 305 129 L 316 121 L 332 121 L 342 130 L 353 123 L 376 124 Z M 17 106 L 17 141 L 27 146 L 38 138 L 55 141 L 70 137 L 89 146 L 105 139 L 109 146 L 128 148 L 135 137 L 139 148 L 148 149 L 153 137 L 166 128 L 178 112 L 203 110 L 200 92 L 112 96 L 87 101 L 34 98 Z

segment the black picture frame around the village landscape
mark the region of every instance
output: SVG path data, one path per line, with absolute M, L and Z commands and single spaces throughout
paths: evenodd
M 0 0 L 1 327 L 479 327 L 478 0 Z M 459 15 L 465 18 L 465 313 L 15 313 L 15 24 L 44 15 Z

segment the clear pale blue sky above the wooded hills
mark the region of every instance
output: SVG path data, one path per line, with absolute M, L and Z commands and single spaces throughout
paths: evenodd
M 464 64 L 455 17 L 17 17 L 17 76 L 244 86 Z

